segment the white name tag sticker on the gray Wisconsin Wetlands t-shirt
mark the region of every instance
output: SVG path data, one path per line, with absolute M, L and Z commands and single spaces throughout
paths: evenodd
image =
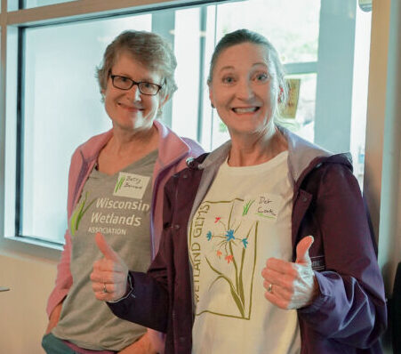
M 150 177 L 148 176 L 120 172 L 113 191 L 113 196 L 141 199 L 148 187 L 149 180 Z

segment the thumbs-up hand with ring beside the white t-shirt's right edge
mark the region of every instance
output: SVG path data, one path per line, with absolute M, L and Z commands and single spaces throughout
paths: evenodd
M 308 306 L 317 297 L 318 285 L 312 262 L 309 258 L 309 248 L 313 237 L 301 239 L 297 245 L 295 262 L 269 258 L 266 267 L 261 271 L 266 288 L 265 297 L 269 302 L 281 309 L 300 309 Z

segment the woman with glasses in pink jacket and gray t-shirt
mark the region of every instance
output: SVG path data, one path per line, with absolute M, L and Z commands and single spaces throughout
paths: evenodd
M 126 31 L 104 53 L 97 76 L 112 129 L 78 147 L 71 160 L 68 230 L 47 306 L 48 353 L 159 350 L 156 333 L 116 318 L 93 298 L 89 276 L 100 258 L 97 232 L 131 270 L 148 269 L 163 229 L 164 184 L 202 152 L 156 120 L 177 89 L 175 68 L 169 44 L 148 32 Z M 114 289 L 105 283 L 101 291 Z

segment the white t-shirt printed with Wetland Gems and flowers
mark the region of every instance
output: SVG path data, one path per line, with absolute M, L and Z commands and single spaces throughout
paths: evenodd
M 221 165 L 188 226 L 196 318 L 192 353 L 296 354 L 296 310 L 266 300 L 261 270 L 292 261 L 288 152 L 261 165 Z

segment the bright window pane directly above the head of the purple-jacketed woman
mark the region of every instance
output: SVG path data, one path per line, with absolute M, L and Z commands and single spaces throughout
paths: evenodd
M 266 36 L 283 63 L 316 61 L 320 0 L 251 0 L 221 4 L 217 39 L 238 28 Z

